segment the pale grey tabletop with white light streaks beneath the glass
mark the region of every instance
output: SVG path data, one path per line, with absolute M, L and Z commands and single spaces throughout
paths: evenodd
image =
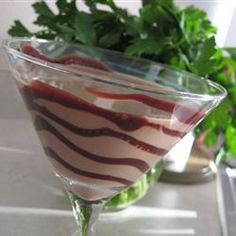
M 1 236 L 69 236 L 76 230 L 7 71 L 0 71 L 0 189 Z M 216 183 L 157 183 L 135 206 L 103 214 L 98 227 L 101 236 L 220 236 Z

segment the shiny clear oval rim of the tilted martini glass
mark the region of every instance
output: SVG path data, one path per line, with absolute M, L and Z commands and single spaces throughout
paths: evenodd
M 26 53 L 20 52 L 16 49 L 14 49 L 13 47 L 11 47 L 11 43 L 23 43 L 23 42 L 28 42 L 28 43 L 33 43 L 33 42 L 37 42 L 37 43 L 61 43 L 61 41 L 56 41 L 56 40 L 47 40 L 47 39 L 39 39 L 39 38 L 27 38 L 27 37 L 13 37 L 13 38 L 9 38 L 9 39 L 4 39 L 2 42 L 3 48 L 13 54 L 18 56 L 21 59 L 24 59 L 26 61 L 29 61 L 31 63 L 43 66 L 43 67 L 47 67 L 49 69 L 58 71 L 58 72 L 62 72 L 62 73 L 66 73 L 66 74 L 71 74 L 73 76 L 81 76 L 84 75 L 84 72 L 81 72 L 79 70 L 75 71 L 74 69 L 65 66 L 65 65 L 61 65 L 61 64 L 57 64 L 57 63 L 52 63 L 52 62 L 46 62 L 42 59 L 38 59 L 36 57 L 30 56 Z M 166 65 L 166 64 L 162 64 L 159 62 L 155 62 L 149 59 L 145 59 L 145 58 L 139 58 L 139 57 L 132 57 L 132 56 L 127 56 L 122 52 L 119 51 L 113 51 L 113 50 L 109 50 L 109 49 L 104 49 L 104 48 L 99 48 L 99 47 L 95 47 L 95 46 L 86 46 L 86 45 L 82 45 L 79 43 L 73 43 L 73 42 L 69 42 L 68 45 L 75 45 L 77 47 L 80 48 L 94 48 L 96 50 L 99 50 L 101 52 L 109 52 L 109 53 L 113 53 L 114 55 L 119 55 L 121 57 L 126 57 L 127 59 L 130 60 L 139 60 L 139 61 L 144 61 L 144 62 L 149 62 L 152 63 L 152 65 L 157 65 L 160 68 L 164 68 L 168 71 L 174 72 L 174 73 L 181 73 L 183 75 L 186 75 L 188 77 L 194 78 L 194 79 L 199 79 L 201 81 L 204 81 L 204 83 L 207 84 L 207 86 L 209 87 L 214 87 L 218 93 L 217 94 L 199 94 L 199 93 L 194 93 L 194 92 L 185 92 L 185 91 L 179 91 L 179 90 L 168 90 L 168 93 L 163 93 L 163 90 L 159 90 L 158 87 L 155 86 L 145 86 L 145 85 L 140 85 L 140 84 L 135 84 L 131 83 L 131 82 L 118 82 L 118 81 L 107 81 L 104 78 L 96 78 L 96 74 L 91 73 L 91 75 L 89 76 L 89 78 L 86 78 L 86 80 L 92 80 L 92 81 L 96 81 L 96 82 L 101 82 L 101 83 L 106 83 L 106 84 L 112 84 L 114 86 L 120 86 L 120 87 L 125 87 L 125 88 L 130 88 L 132 90 L 138 90 L 138 91 L 142 91 L 142 92 L 147 92 L 147 93 L 151 93 L 151 94 L 160 94 L 161 96 L 176 96 L 176 97 L 182 97 L 182 98 L 189 98 L 189 99 L 200 99 L 200 100 L 214 100 L 214 99 L 223 99 L 224 97 L 227 96 L 227 90 L 220 84 L 211 81 L 209 79 L 206 79 L 202 76 L 196 75 L 194 73 L 185 71 L 185 70 L 181 70 L 178 69 L 176 67 L 170 66 L 170 65 Z M 99 71 L 101 72 L 101 70 L 98 69 L 93 69 L 94 71 Z M 104 75 L 109 76 L 110 72 L 106 72 L 106 71 L 102 71 L 102 73 Z M 138 77 L 138 76 L 136 76 Z M 137 78 L 138 80 L 138 78 Z M 141 80 L 142 81 L 142 80 Z M 148 81 L 143 79 L 143 81 Z M 150 82 L 150 81 L 149 81 Z M 153 85 L 155 85 L 155 81 L 151 82 Z M 149 84 L 150 85 L 150 84 Z

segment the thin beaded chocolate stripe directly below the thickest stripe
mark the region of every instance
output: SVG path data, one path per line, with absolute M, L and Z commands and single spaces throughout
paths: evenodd
M 153 145 L 150 145 L 148 143 L 145 143 L 143 141 L 140 141 L 132 136 L 129 136 L 125 133 L 121 133 L 121 132 L 117 132 L 115 130 L 112 130 L 110 128 L 100 128 L 100 129 L 84 129 L 78 126 L 75 126 L 61 118 L 59 118 L 58 116 L 56 116 L 55 114 L 53 114 L 52 112 L 50 112 L 49 110 L 47 110 L 44 107 L 41 107 L 37 104 L 34 103 L 34 107 L 31 106 L 30 108 L 31 110 L 35 110 L 41 114 L 43 114 L 44 116 L 46 116 L 47 118 L 53 120 L 55 123 L 61 125 L 62 127 L 64 127 L 65 129 L 71 131 L 72 133 L 76 134 L 76 135 L 80 135 L 80 136 L 84 136 L 84 137 L 101 137 L 101 136 L 109 136 L 109 137 L 113 137 L 113 138 L 117 138 L 120 139 L 124 142 L 129 143 L 130 145 L 141 149 L 143 151 L 146 151 L 148 153 L 152 153 L 152 154 L 156 154 L 159 156 L 163 156 L 167 153 L 167 150 L 163 149 L 163 148 L 157 148 Z M 40 123 L 40 121 L 44 121 L 45 119 L 43 119 L 41 116 L 37 116 L 38 122 Z

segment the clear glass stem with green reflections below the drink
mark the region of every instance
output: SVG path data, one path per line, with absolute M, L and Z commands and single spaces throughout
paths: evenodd
M 80 236 L 94 236 L 94 223 L 103 208 L 103 201 L 88 202 L 77 197 L 72 192 L 67 192 L 76 223 L 79 226 Z

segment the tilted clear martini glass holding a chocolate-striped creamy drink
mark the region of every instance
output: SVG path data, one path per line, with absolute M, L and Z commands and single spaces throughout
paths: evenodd
M 81 236 L 226 96 L 196 75 L 121 53 L 39 39 L 4 41 L 42 147 Z

